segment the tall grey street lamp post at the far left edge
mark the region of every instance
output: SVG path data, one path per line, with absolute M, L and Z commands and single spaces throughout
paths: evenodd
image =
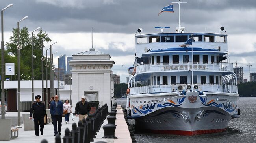
M 2 40 L 1 40 L 1 106 L 2 109 L 5 107 L 5 99 L 4 99 L 4 10 L 13 6 L 13 4 L 9 4 L 7 7 L 1 10 L 1 34 L 2 34 Z M 5 117 L 5 111 L 1 110 L 1 119 L 4 119 Z

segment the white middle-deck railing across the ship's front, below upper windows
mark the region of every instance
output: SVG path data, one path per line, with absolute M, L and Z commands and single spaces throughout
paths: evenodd
M 161 62 L 136 65 L 136 73 L 145 71 L 213 70 L 233 72 L 233 63 L 227 62 Z

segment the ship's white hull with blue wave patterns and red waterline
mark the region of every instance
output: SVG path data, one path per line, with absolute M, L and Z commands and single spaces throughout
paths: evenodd
M 238 114 L 238 94 L 178 93 L 130 96 L 133 108 L 128 110 L 128 117 L 135 119 L 137 129 L 146 132 L 196 135 L 224 131 Z M 151 103 L 141 105 L 144 101 Z

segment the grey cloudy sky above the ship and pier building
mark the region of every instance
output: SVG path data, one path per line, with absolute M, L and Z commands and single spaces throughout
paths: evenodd
M 156 33 L 155 26 L 178 27 L 178 5 L 174 13 L 159 11 L 178 0 L 0 0 L 4 11 L 4 42 L 9 40 L 13 27 L 24 16 L 28 19 L 20 27 L 33 31 L 42 27 L 50 38 L 57 41 L 53 52 L 57 56 L 72 56 L 93 47 L 110 54 L 115 61 L 112 70 L 126 82 L 127 68 L 134 63 L 135 32 L 141 27 L 144 34 Z M 187 32 L 219 33 L 225 27 L 228 34 L 230 62 L 244 68 L 244 78 L 256 72 L 256 0 L 182 0 L 181 24 Z M 51 43 L 46 43 L 48 47 Z M 58 60 L 54 59 L 58 65 Z M 235 64 L 234 64 L 235 65 Z

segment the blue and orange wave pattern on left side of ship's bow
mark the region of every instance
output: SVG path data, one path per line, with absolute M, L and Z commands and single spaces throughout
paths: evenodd
M 132 113 L 134 115 L 147 114 L 148 112 L 152 112 L 153 109 L 158 108 L 158 107 L 161 107 L 161 108 L 163 108 L 163 107 L 179 107 L 180 105 L 182 105 L 182 103 L 184 102 L 185 98 L 186 98 L 186 96 L 177 99 L 177 102 L 178 102 L 177 105 L 173 104 L 173 103 L 168 103 L 167 102 L 167 103 L 163 103 L 163 105 L 161 103 L 159 103 L 159 104 L 154 103 L 153 105 L 152 105 L 152 103 L 150 103 L 150 105 L 148 105 L 148 104 L 147 105 L 143 105 L 143 107 L 141 107 L 142 110 L 138 109 L 137 107 L 133 107 Z M 139 112 L 139 113 L 135 112 L 135 110 L 137 112 Z

